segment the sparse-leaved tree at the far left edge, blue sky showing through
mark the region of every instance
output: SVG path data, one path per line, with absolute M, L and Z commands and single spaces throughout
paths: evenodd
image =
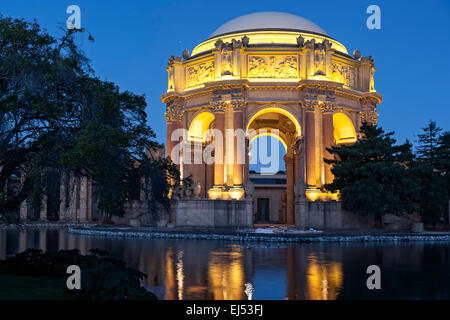
M 71 33 L 57 41 L 36 22 L 0 16 L 0 214 L 39 199 L 53 135 L 77 120 L 77 80 L 88 71 Z

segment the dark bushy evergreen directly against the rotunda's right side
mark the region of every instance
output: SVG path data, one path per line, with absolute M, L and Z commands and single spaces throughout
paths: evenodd
M 364 123 L 362 138 L 352 145 L 337 145 L 327 150 L 334 159 L 334 181 L 326 184 L 331 192 L 340 192 L 343 207 L 361 214 L 374 215 L 378 223 L 385 214 L 411 213 L 411 201 L 418 186 L 408 174 L 413 159 L 411 144 L 394 145 L 393 132 Z

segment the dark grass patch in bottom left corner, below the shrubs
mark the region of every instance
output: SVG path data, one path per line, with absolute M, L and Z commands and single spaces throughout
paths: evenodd
M 0 300 L 67 300 L 65 278 L 0 274 Z

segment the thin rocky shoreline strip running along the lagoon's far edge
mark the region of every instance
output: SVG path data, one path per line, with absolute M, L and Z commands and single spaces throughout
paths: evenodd
M 411 232 L 405 230 L 297 230 L 273 226 L 253 229 L 163 228 L 105 226 L 97 223 L 25 223 L 0 225 L 0 229 L 67 229 L 70 234 L 113 238 L 191 239 L 269 243 L 342 243 L 342 242 L 450 242 L 448 231 Z

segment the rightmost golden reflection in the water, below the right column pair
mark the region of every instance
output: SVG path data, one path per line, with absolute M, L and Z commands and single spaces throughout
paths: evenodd
M 320 263 L 313 256 L 308 260 L 307 299 L 336 300 L 343 283 L 342 264 L 334 261 Z

